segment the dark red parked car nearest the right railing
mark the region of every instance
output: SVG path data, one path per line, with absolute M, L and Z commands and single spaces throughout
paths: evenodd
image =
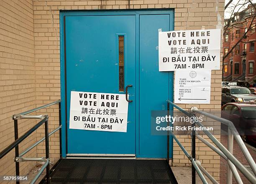
M 228 103 L 221 107 L 221 117 L 235 125 L 244 141 L 256 143 L 256 104 L 251 102 Z

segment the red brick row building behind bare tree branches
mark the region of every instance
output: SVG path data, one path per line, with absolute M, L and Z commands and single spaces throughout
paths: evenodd
M 243 37 L 244 33 L 249 30 L 241 42 L 239 42 L 228 57 L 225 58 L 223 62 L 223 81 L 252 80 L 256 75 L 256 50 L 254 43 L 256 40 L 256 19 L 253 20 L 255 15 L 256 13 L 253 6 L 248 5 L 245 10 L 234 13 L 234 16 L 230 20 L 224 20 L 224 25 L 228 25 L 228 27 L 223 34 L 223 56 L 225 56 L 241 37 Z M 252 20 L 253 23 L 251 24 Z

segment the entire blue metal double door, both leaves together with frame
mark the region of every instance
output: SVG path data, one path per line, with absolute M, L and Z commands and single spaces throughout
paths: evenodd
M 61 12 L 62 150 L 66 154 L 134 154 L 165 158 L 166 136 L 151 134 L 151 110 L 172 101 L 173 72 L 159 72 L 158 29 L 174 29 L 173 10 Z M 70 92 L 120 93 L 119 41 L 124 39 L 127 132 L 69 129 Z M 172 139 L 170 141 L 172 158 Z

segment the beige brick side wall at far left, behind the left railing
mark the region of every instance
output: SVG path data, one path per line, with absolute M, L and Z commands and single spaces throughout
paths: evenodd
M 0 150 L 14 141 L 11 116 L 34 108 L 36 100 L 34 67 L 33 1 L 0 0 Z M 35 121 L 19 121 L 19 135 L 24 134 Z M 32 134 L 22 144 L 22 151 L 33 144 Z M 14 150 L 0 160 L 0 175 L 13 175 Z M 36 156 L 36 149 L 26 154 Z M 20 164 L 24 174 L 32 165 Z

